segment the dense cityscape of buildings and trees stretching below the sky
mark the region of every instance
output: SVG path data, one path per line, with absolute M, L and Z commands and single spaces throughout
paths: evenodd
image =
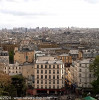
M 25 97 L 98 100 L 99 28 L 1 29 L 0 98 Z

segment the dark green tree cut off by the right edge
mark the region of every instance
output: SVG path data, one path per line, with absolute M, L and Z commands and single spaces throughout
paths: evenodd
M 90 65 L 90 70 L 94 72 L 96 79 L 91 83 L 95 94 L 99 93 L 99 56 L 95 58 L 93 63 Z

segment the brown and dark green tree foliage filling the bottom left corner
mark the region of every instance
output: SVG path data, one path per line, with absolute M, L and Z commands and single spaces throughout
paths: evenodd
M 6 74 L 4 74 L 6 76 Z M 0 96 L 25 96 L 26 93 L 26 85 L 25 79 L 22 75 L 15 76 L 2 76 L 4 80 L 0 80 Z M 7 78 L 7 79 L 6 79 Z M 5 80 L 6 79 L 6 80 Z

